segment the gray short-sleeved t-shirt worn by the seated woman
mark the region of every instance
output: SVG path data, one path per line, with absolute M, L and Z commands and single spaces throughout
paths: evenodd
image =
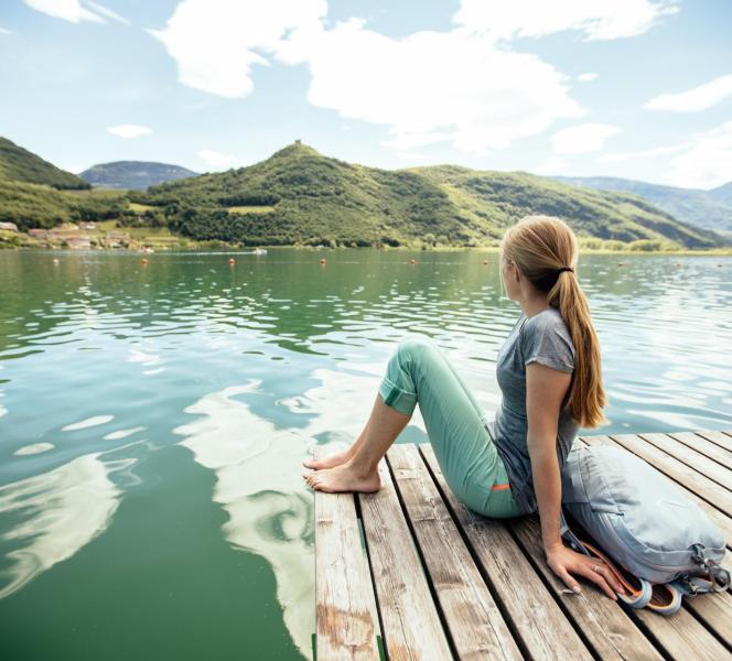
M 496 358 L 496 377 L 503 398 L 496 411 L 494 441 L 506 466 L 514 499 L 526 513 L 538 509 L 526 441 L 526 366 L 534 361 L 566 372 L 574 370 L 572 338 L 556 307 L 542 310 L 531 317 L 521 312 Z M 557 427 L 560 470 L 577 431 L 577 422 L 568 411 L 562 411 Z

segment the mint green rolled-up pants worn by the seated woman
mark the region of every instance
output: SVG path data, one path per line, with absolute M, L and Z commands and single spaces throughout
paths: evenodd
M 499 519 L 520 514 L 485 413 L 432 339 L 411 335 L 401 340 L 379 394 L 405 414 L 419 403 L 445 481 L 467 508 Z

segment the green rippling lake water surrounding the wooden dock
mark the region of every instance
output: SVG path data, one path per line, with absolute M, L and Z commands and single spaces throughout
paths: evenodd
M 520 310 L 496 253 L 229 257 L 0 252 L 2 659 L 310 658 L 301 462 L 358 434 L 411 333 L 497 407 Z M 732 429 L 732 258 L 579 278 L 611 421 L 582 433 Z M 417 411 L 399 442 L 423 441 Z

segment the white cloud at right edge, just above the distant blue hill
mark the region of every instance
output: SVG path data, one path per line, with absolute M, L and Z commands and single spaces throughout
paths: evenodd
M 695 136 L 670 165 L 666 178 L 675 186 L 713 188 L 732 181 L 732 121 Z

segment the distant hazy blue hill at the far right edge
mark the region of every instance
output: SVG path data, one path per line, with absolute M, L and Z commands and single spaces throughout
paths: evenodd
M 557 181 L 598 191 L 625 191 L 644 197 L 675 218 L 732 238 L 732 182 L 719 188 L 677 188 L 609 176 L 557 176 Z

